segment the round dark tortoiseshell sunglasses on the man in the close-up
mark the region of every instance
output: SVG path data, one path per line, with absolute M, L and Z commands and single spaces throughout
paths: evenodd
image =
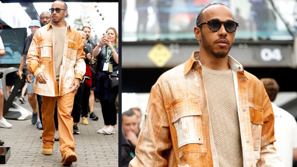
M 217 19 L 212 19 L 212 20 L 209 20 L 209 21 L 198 24 L 198 27 L 202 26 L 204 24 L 207 24 L 208 28 L 210 30 L 216 32 L 221 28 L 222 23 L 224 23 L 224 27 L 225 27 L 226 31 L 230 32 L 230 33 L 234 32 L 237 29 L 237 27 L 239 26 L 238 23 L 236 23 L 235 21 L 232 21 L 232 20 L 229 20 L 229 21 L 225 22 L 225 21 L 219 21 Z

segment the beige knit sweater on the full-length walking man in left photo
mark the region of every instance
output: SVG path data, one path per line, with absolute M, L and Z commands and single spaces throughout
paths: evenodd
M 63 60 L 63 49 L 65 42 L 66 27 L 56 27 L 54 25 L 53 30 L 55 34 L 55 50 L 54 50 L 54 62 L 55 62 L 55 72 L 56 79 L 60 77 L 60 66 Z

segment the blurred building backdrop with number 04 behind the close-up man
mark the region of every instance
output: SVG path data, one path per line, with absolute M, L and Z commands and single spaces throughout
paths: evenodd
M 276 79 L 275 103 L 297 118 L 295 0 L 123 0 L 122 111 L 139 107 L 143 118 L 158 77 L 199 50 L 196 18 L 211 3 L 226 4 L 240 24 L 229 54 L 259 79 Z

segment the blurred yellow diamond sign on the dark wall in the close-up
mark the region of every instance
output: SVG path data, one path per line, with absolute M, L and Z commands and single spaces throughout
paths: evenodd
M 147 57 L 152 60 L 157 67 L 164 67 L 172 57 L 172 53 L 165 45 L 158 43 L 148 52 Z

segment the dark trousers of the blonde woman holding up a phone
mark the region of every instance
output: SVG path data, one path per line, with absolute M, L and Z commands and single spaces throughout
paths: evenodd
M 99 100 L 101 104 L 102 109 L 102 116 L 104 120 L 105 125 L 115 125 L 116 124 L 116 96 L 119 93 L 119 87 L 116 86 L 114 88 L 111 88 L 111 86 L 108 84 L 107 88 L 107 94 L 108 99 L 104 100 L 103 93 L 104 93 L 104 80 L 99 80 Z

